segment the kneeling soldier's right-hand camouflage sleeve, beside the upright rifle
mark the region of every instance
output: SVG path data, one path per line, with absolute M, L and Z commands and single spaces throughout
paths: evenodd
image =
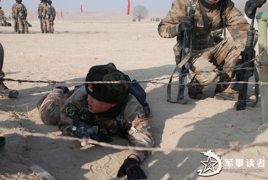
M 229 0 L 226 9 L 226 28 L 230 32 L 238 51 L 245 49 L 247 40 L 247 31 L 250 30 L 250 24 L 244 18 L 241 11 L 234 7 L 234 3 Z

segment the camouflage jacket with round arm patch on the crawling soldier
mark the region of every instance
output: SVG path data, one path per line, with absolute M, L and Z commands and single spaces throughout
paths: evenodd
M 62 103 L 61 119 L 58 123 L 62 134 L 73 136 L 67 131 L 71 120 L 85 121 L 90 125 L 97 125 L 100 129 L 104 128 L 108 134 L 127 134 L 131 147 L 153 147 L 154 140 L 150 131 L 148 119 L 142 109 L 142 105 L 137 99 L 129 94 L 120 113 L 116 118 L 103 118 L 89 112 L 85 86 L 76 87 L 72 90 L 69 98 Z M 71 112 L 70 112 L 71 110 Z M 147 158 L 151 151 L 130 150 L 142 161 Z

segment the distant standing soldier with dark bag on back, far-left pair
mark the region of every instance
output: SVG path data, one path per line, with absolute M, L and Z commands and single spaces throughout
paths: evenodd
M 27 17 L 27 9 L 21 4 L 22 0 L 16 0 L 18 4 L 15 6 L 15 17 L 18 20 L 19 29 L 18 33 L 22 32 L 24 34 L 23 29 L 27 34 L 29 34 L 28 27 L 26 25 L 26 17 Z

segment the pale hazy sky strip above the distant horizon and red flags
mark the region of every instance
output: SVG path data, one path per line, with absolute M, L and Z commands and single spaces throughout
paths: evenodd
M 0 6 L 11 9 L 15 0 L 1 0 Z M 80 3 L 83 12 L 126 12 L 127 0 L 52 0 L 52 6 L 63 12 L 80 12 Z M 136 5 L 145 6 L 149 12 L 167 13 L 173 0 L 130 0 L 130 12 Z M 246 0 L 233 0 L 235 3 L 245 4 Z M 37 11 L 39 0 L 22 0 L 28 11 Z

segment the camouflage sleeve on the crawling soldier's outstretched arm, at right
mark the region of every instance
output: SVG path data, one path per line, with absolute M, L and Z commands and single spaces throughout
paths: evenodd
M 132 96 L 132 95 L 130 95 Z M 142 105 L 134 96 L 127 104 L 124 111 L 124 125 L 129 133 L 129 147 L 153 147 L 154 139 L 151 134 L 148 119 L 142 109 Z M 135 154 L 139 157 L 140 162 L 150 155 L 151 151 L 130 150 L 130 154 Z

